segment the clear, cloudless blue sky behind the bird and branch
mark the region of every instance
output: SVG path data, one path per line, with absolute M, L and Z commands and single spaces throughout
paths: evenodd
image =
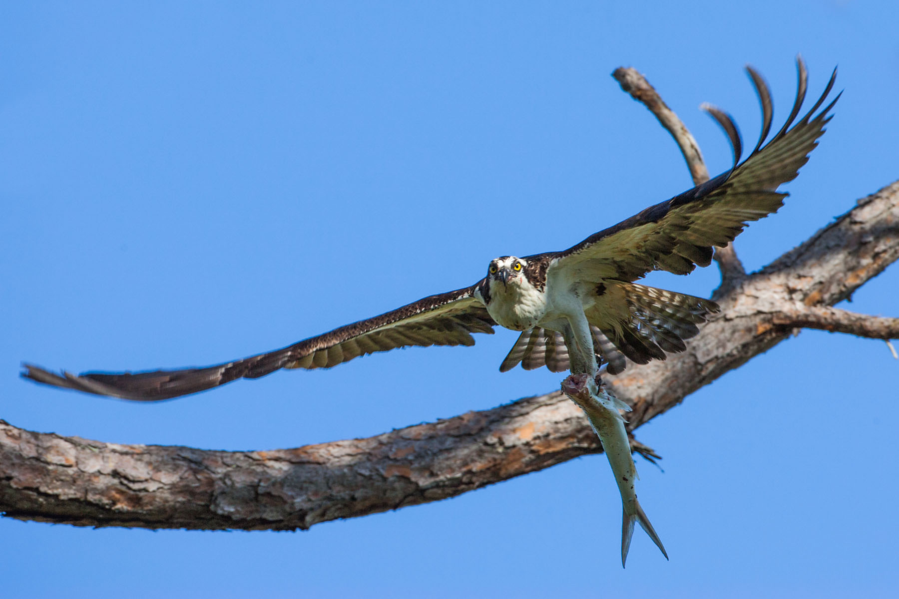
M 728 7 L 730 5 L 730 7 Z M 279 348 L 557 250 L 690 187 L 609 76 L 636 66 L 697 110 L 759 110 L 797 52 L 845 89 L 787 206 L 737 240 L 757 269 L 899 178 L 899 4 L 4 3 L 0 418 L 61 435 L 218 449 L 369 436 L 556 389 L 497 371 L 514 334 L 284 372 L 163 404 L 60 392 L 76 372 Z M 749 144 L 752 145 L 751 143 Z M 652 277 L 708 295 L 717 271 Z M 845 304 L 899 315 L 899 267 Z M 638 431 L 637 531 L 619 564 L 605 457 L 306 533 L 90 530 L 0 520 L 8 596 L 884 596 L 899 587 L 899 362 L 805 331 Z

